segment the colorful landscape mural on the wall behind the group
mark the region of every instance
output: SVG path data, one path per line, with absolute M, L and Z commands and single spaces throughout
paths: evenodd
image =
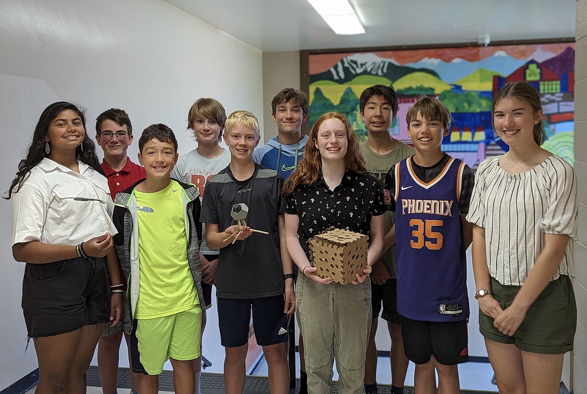
M 409 142 L 407 109 L 420 95 L 434 96 L 453 115 L 443 150 L 476 169 L 485 157 L 508 149 L 494 135 L 491 102 L 502 86 L 516 80 L 540 93 L 547 136 L 543 147 L 572 164 L 575 46 L 568 42 L 310 54 L 310 123 L 336 110 L 365 141 L 359 97 L 366 87 L 387 85 L 399 97 L 390 133 Z

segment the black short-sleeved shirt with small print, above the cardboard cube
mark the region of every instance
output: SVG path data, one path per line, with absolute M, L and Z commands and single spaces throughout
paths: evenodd
M 316 183 L 299 185 L 285 197 L 285 213 L 298 215 L 298 238 L 309 256 L 308 240 L 329 227 L 369 236 L 371 217 L 385 212 L 382 188 L 372 174 L 346 170 L 339 186 L 330 190 L 322 173 Z

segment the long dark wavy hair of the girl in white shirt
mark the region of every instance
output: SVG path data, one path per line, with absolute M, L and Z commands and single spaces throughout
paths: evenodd
M 8 189 L 8 197 L 4 197 L 6 200 L 9 200 L 12 197 L 12 193 L 16 193 L 21 188 L 23 182 L 28 179 L 33 167 L 47 157 L 45 153 L 45 137 L 49 134 L 49 125 L 56 119 L 60 112 L 68 109 L 80 117 L 83 129 L 87 130 L 86 117 L 84 115 L 85 109 L 83 107 L 77 107 L 75 104 L 65 101 L 56 102 L 46 107 L 43 113 L 41 113 L 41 117 L 39 117 L 39 122 L 36 124 L 26 157 L 18 164 L 18 172 L 16 172 L 16 177 Z M 87 136 L 87 132 L 84 134 L 82 143 L 75 150 L 75 158 L 76 160 L 83 161 L 83 163 L 86 163 L 100 174 L 104 174 L 96 156 L 96 145 L 92 141 L 92 138 Z

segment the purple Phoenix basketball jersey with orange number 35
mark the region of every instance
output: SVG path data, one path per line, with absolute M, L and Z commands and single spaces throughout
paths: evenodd
M 413 320 L 468 318 L 459 196 L 464 163 L 451 157 L 429 183 L 411 157 L 396 166 L 397 311 Z

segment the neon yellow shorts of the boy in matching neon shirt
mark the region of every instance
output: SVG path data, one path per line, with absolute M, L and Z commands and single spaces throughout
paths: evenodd
M 193 360 L 200 357 L 200 305 L 178 314 L 154 319 L 134 319 L 133 322 L 131 356 L 134 372 L 159 375 L 169 358 Z

